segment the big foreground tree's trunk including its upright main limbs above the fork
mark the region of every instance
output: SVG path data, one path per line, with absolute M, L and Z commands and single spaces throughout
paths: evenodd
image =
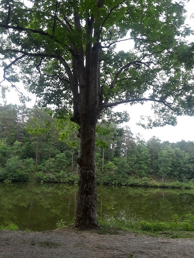
M 75 18 L 78 18 L 75 14 Z M 93 21 L 94 22 L 94 21 Z M 97 119 L 102 110 L 102 97 L 100 97 L 99 79 L 99 52 L 100 43 L 90 41 L 93 34 L 93 24 L 87 21 L 88 44 L 85 50 L 78 49 L 78 56 L 72 56 L 74 81 L 79 82 L 79 93 L 74 93 L 74 118 L 72 121 L 80 125 L 80 180 L 78 190 L 78 206 L 75 227 L 98 228 L 97 224 L 97 190 L 96 190 L 96 164 L 95 164 L 95 137 Z M 80 30 L 80 24 L 77 24 Z M 99 32 L 99 31 L 98 31 Z M 96 32 L 94 32 L 95 34 Z M 76 60 L 75 60 L 76 59 Z M 72 86 L 74 89 L 74 87 Z M 77 103 L 77 104 L 76 104 Z

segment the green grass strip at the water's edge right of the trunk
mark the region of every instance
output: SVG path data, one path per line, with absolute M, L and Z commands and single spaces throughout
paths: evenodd
M 149 236 L 165 236 L 171 238 L 194 238 L 194 215 L 187 214 L 186 219 L 180 221 L 177 214 L 169 222 L 146 221 L 139 217 L 106 216 L 98 217 L 99 234 L 116 234 L 119 230 L 146 233 Z

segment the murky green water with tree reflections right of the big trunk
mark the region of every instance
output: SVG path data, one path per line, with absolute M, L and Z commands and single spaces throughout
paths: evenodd
M 115 212 L 119 214 L 120 211 L 125 211 L 128 216 L 134 214 L 134 216 L 140 216 L 146 220 L 169 220 L 174 213 L 182 217 L 187 213 L 194 212 L 194 191 L 192 190 L 131 187 L 102 187 L 100 190 L 103 208 L 102 212 L 101 209 L 98 209 L 99 215 Z M 101 203 L 98 203 L 98 207 L 99 205 L 101 207 Z

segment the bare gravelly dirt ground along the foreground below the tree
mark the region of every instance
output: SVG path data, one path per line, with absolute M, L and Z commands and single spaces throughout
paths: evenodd
M 65 228 L 43 232 L 0 231 L 0 258 L 194 258 L 194 239 L 166 239 L 121 232 Z

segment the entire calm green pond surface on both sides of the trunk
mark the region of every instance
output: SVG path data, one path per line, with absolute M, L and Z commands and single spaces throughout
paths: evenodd
M 56 222 L 74 220 L 77 186 L 65 184 L 0 183 L 0 224 L 14 222 L 19 229 L 46 230 Z M 98 215 L 140 216 L 168 221 L 175 213 L 194 214 L 193 190 L 97 187 Z

